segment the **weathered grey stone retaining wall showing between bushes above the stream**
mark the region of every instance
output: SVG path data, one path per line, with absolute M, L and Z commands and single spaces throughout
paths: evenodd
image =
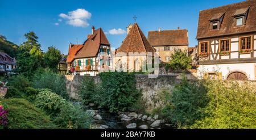
M 80 75 L 65 75 L 66 77 L 66 87 L 69 96 L 73 99 L 77 99 L 76 90 L 79 86 L 79 81 L 82 76 Z M 92 77 L 95 82 L 100 82 L 100 77 Z M 174 75 L 159 75 L 158 78 L 149 79 L 147 75 L 136 75 L 136 87 L 138 90 L 142 91 L 142 98 L 146 104 L 147 111 L 152 111 L 152 109 L 159 107 L 160 103 L 158 100 L 158 95 L 160 91 L 165 89 L 171 89 L 174 87 L 175 83 L 180 82 L 176 79 Z

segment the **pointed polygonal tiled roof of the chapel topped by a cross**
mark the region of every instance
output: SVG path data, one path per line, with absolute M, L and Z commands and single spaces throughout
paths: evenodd
M 117 49 L 116 53 L 123 52 L 128 54 L 129 52 L 155 52 L 155 49 L 147 41 L 147 38 L 144 36 L 143 32 L 139 28 L 137 23 L 133 24 L 130 32 L 123 40 L 121 46 Z

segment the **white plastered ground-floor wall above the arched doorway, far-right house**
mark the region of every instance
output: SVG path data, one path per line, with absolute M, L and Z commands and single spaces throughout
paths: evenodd
M 240 71 L 245 73 L 249 80 L 256 80 L 255 78 L 255 63 L 234 63 L 234 64 L 220 64 L 220 65 L 200 65 L 197 74 L 203 78 L 203 73 L 216 72 L 222 73 L 222 79 L 225 80 L 231 72 Z

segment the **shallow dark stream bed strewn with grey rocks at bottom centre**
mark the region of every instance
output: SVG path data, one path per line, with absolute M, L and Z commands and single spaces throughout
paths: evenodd
M 160 120 L 159 116 L 147 116 L 136 112 L 110 113 L 107 109 L 94 107 L 90 104 L 86 107 L 87 112 L 93 116 L 93 128 L 98 129 L 172 129 L 166 121 Z

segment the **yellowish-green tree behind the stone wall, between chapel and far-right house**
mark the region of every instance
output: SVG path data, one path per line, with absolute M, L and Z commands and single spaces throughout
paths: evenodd
M 166 65 L 166 69 L 169 67 L 172 70 L 187 70 L 191 69 L 190 63 L 192 62 L 191 57 L 188 56 L 187 51 L 181 49 L 175 49 L 171 55 L 170 64 Z

